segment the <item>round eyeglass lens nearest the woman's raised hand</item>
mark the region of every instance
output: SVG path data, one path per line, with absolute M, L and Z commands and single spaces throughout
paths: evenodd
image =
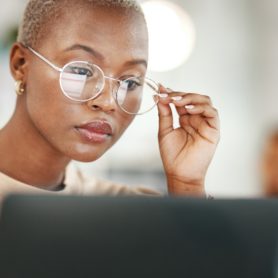
M 136 77 L 121 81 L 117 91 L 117 103 L 128 114 L 140 115 L 150 111 L 158 102 L 155 96 L 159 86 L 150 79 Z

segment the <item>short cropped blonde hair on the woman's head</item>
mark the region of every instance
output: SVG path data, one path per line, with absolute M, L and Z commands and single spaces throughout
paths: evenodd
M 19 26 L 17 41 L 25 46 L 35 47 L 44 36 L 48 23 L 53 23 L 60 17 L 65 7 L 82 5 L 103 6 L 108 8 L 123 8 L 138 12 L 143 17 L 143 11 L 137 0 L 29 0 L 23 20 Z

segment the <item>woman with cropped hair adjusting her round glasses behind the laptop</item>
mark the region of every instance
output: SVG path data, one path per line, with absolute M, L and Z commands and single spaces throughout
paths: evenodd
M 155 194 L 88 180 L 69 166 L 97 160 L 121 137 L 139 113 L 144 83 L 158 107 L 169 192 L 203 196 L 219 141 L 217 111 L 207 96 L 156 88 L 144 79 L 147 61 L 147 27 L 136 1 L 30 0 L 10 55 L 18 98 L 0 131 L 0 196 Z

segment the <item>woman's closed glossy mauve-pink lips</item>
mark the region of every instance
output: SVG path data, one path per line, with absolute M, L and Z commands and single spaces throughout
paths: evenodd
M 103 120 L 97 120 L 76 127 L 81 137 L 92 143 L 104 143 L 112 134 L 112 126 Z

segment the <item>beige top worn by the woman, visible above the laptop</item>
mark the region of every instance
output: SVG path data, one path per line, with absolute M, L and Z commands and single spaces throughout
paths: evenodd
M 40 189 L 0 172 L 0 204 L 9 194 L 65 194 L 65 195 L 162 195 L 160 192 L 145 187 L 128 187 L 109 181 L 85 177 L 74 165 L 67 167 L 65 188 L 61 191 Z

